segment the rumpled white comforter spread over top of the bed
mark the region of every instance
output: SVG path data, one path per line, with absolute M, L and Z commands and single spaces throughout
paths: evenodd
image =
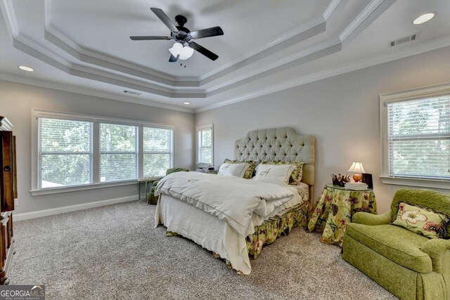
M 294 196 L 280 185 L 199 172 L 165 176 L 155 190 L 160 193 L 217 216 L 244 237 L 253 214 L 266 218 Z

